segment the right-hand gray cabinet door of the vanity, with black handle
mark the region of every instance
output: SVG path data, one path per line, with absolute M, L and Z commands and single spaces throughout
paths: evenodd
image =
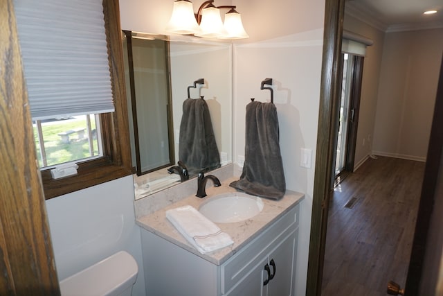
M 296 232 L 292 232 L 269 254 L 273 278 L 266 285 L 268 296 L 290 296 L 295 293 Z M 275 268 L 274 268 L 275 266 Z

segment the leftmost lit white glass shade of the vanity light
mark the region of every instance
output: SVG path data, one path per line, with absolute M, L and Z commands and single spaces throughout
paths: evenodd
M 174 2 L 171 19 L 166 26 L 166 31 L 177 34 L 196 34 L 200 32 L 192 2 L 187 0 Z

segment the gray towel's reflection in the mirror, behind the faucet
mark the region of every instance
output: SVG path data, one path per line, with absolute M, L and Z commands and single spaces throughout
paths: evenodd
M 179 159 L 190 175 L 220 167 L 213 123 L 203 98 L 187 98 L 183 102 L 179 140 Z

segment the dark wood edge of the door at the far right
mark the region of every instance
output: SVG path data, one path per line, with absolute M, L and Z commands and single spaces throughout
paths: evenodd
M 422 280 L 424 255 L 428 238 L 428 229 L 433 214 L 435 188 L 442 162 L 443 151 L 443 59 L 440 66 L 440 78 L 435 98 L 435 109 L 431 136 L 429 138 L 428 155 L 422 184 L 417 223 L 413 247 L 410 254 L 408 277 L 406 278 L 405 295 L 419 295 L 419 285 Z M 440 172 L 441 173 L 441 172 Z

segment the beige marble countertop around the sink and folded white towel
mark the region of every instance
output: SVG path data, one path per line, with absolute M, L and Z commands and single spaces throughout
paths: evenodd
M 305 196 L 302 193 L 287 191 L 284 197 L 281 200 L 269 200 L 266 198 L 262 198 L 264 203 L 263 210 L 260 214 L 257 214 L 253 218 L 248 220 L 244 220 L 237 223 L 216 223 L 218 227 L 220 227 L 221 231 L 226 232 L 233 239 L 233 245 L 229 247 L 224 247 L 223 249 L 217 250 L 215 252 L 210 252 L 206 254 L 201 254 L 192 247 L 190 243 L 186 241 L 175 227 L 169 222 L 166 218 L 165 212 L 168 209 L 174 209 L 176 207 L 182 207 L 184 205 L 190 205 L 195 207 L 195 209 L 199 209 L 200 204 L 205 202 L 211 196 L 218 195 L 220 193 L 228 193 L 235 192 L 236 190 L 229 186 L 229 183 L 237 180 L 238 178 L 233 177 L 225 182 L 222 182 L 221 186 L 215 187 L 211 186 L 212 183 L 208 182 L 206 186 L 206 193 L 208 196 L 205 198 L 197 198 L 195 195 L 191 195 L 188 198 L 183 198 L 173 204 L 164 207 L 163 209 L 159 209 L 152 214 L 147 216 L 141 216 L 136 220 L 136 223 L 146 229 L 153 234 L 156 234 L 162 238 L 165 238 L 167 241 L 182 247 L 197 256 L 200 256 L 211 263 L 216 265 L 221 265 L 226 260 L 233 256 L 236 252 L 238 252 L 242 247 L 244 247 L 247 243 L 253 240 L 258 234 L 260 234 L 266 227 L 270 226 L 275 220 L 278 220 L 281 216 L 283 216 L 287 211 L 292 209 L 302 200 Z

